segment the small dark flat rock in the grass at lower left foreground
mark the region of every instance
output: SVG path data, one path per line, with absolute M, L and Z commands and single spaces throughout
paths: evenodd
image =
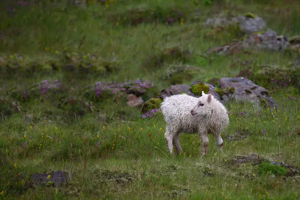
M 35 184 L 54 184 L 56 187 L 60 187 L 66 181 L 63 171 L 53 171 L 50 174 L 35 173 L 32 174 L 31 178 Z

